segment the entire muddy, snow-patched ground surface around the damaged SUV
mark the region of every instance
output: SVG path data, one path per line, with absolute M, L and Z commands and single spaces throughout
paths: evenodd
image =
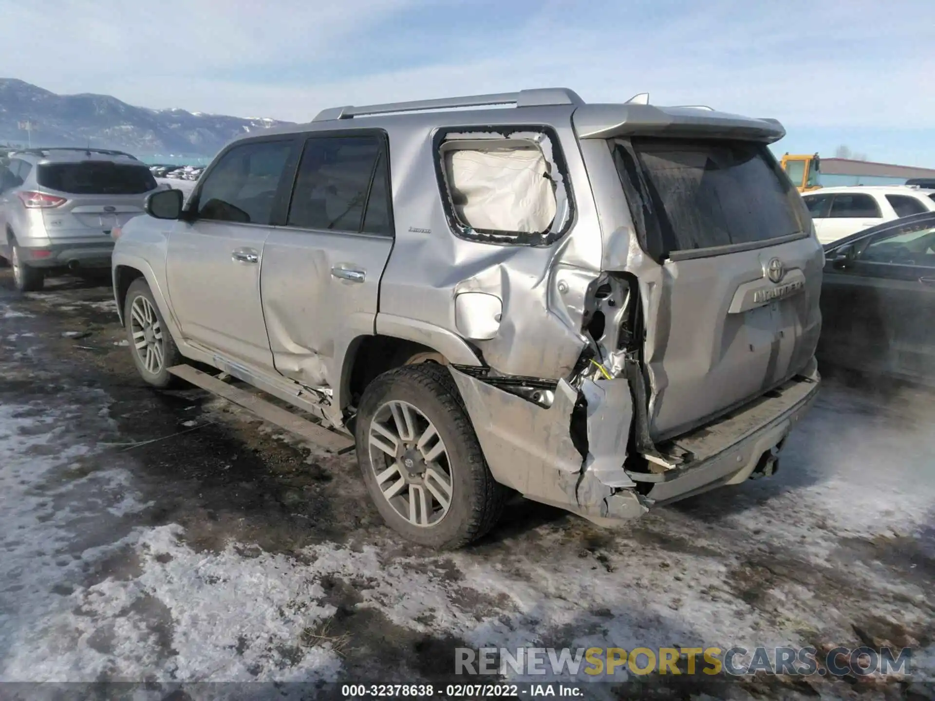
M 441 684 L 456 647 L 866 643 L 912 647 L 913 677 L 618 670 L 593 695 L 930 698 L 933 416 L 831 379 L 772 479 L 613 530 L 517 498 L 438 554 L 382 525 L 352 455 L 145 387 L 106 282 L 21 295 L 0 269 L 0 680 Z

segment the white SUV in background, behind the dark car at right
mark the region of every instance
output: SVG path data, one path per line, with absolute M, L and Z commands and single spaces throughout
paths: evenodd
M 823 244 L 911 214 L 935 211 L 935 190 L 908 185 L 822 188 L 802 195 Z

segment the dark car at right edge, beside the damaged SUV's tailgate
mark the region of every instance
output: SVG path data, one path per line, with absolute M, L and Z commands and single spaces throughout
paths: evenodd
M 935 212 L 825 248 L 820 361 L 935 381 Z

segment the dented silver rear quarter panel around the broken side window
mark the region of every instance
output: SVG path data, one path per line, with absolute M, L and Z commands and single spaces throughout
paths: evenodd
M 498 333 L 490 339 L 468 338 L 484 362 L 506 375 L 568 377 L 586 345 L 583 299 L 597 278 L 602 255 L 597 211 L 571 112 L 566 106 L 537 110 L 537 123 L 558 137 L 574 196 L 568 233 L 547 245 L 466 240 L 453 232 L 444 206 L 447 193 L 436 170 L 438 130 L 472 136 L 485 131 L 513 134 L 511 127 L 527 132 L 528 125 L 511 110 L 503 110 L 503 122 L 497 124 L 491 124 L 489 111 L 431 114 L 422 129 L 412 128 L 411 116 L 400 128 L 391 120 L 381 122 L 392 144 L 396 218 L 396 243 L 381 282 L 381 313 L 459 334 L 456 294 L 493 294 L 503 306 Z

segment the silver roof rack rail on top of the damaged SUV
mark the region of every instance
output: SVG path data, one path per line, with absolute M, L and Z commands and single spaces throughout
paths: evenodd
M 329 107 L 323 109 L 312 122 L 350 120 L 371 114 L 392 112 L 416 112 L 426 109 L 454 109 L 457 107 L 485 107 L 488 105 L 515 105 L 516 107 L 544 107 L 548 105 L 583 105 L 584 101 L 568 88 L 538 88 L 521 90 L 519 93 L 493 93 L 487 95 L 465 95 L 464 97 L 442 97 L 435 100 L 413 100 L 411 102 L 388 102 L 383 105 L 363 107 Z

